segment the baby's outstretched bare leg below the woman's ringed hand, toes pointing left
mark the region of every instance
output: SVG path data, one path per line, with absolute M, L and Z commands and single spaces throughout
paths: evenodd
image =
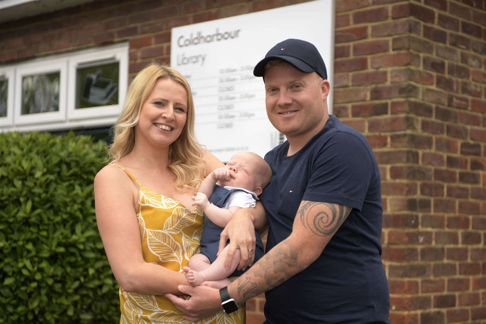
M 236 267 L 238 267 L 241 259 L 240 250 L 236 250 L 233 257 L 233 262 L 231 263 L 231 268 L 229 270 L 226 270 L 225 261 L 227 253 L 228 247 L 226 246 L 226 248 L 224 248 L 223 251 L 219 253 L 216 260 L 214 260 L 214 262 L 209 267 L 202 271 L 194 271 L 191 267 L 191 270 L 188 270 L 186 272 L 186 278 L 188 278 L 189 284 L 191 286 L 199 286 L 204 281 L 220 280 L 227 278 L 231 273 L 233 273 L 234 270 L 236 270 Z M 186 271 L 186 269 L 184 269 L 184 271 Z M 188 276 L 190 276 L 191 278 L 189 278 Z

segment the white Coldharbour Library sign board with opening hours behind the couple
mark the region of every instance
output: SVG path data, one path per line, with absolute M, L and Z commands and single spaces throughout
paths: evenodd
M 334 1 L 317 0 L 172 29 L 171 66 L 189 81 L 196 137 L 227 162 L 238 151 L 260 156 L 284 140 L 268 121 L 255 65 L 278 42 L 314 44 L 333 75 Z M 332 89 L 332 85 L 331 85 Z M 332 112 L 332 92 L 328 97 Z

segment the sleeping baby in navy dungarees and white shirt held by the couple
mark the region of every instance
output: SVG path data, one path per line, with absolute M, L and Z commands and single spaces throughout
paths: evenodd
M 241 260 L 240 250 L 236 250 L 230 270 L 225 269 L 228 247 L 216 255 L 220 234 L 238 209 L 255 207 L 258 196 L 271 178 L 272 170 L 265 160 L 255 153 L 240 152 L 233 155 L 225 167 L 214 170 L 203 180 L 197 195 L 192 197 L 192 205 L 199 206 L 205 214 L 201 253 L 194 254 L 189 267 L 183 269 L 191 286 L 219 280 L 213 282 L 212 287 L 222 288 L 230 283 L 227 277 L 244 272 L 236 270 Z M 257 262 L 263 256 L 263 243 L 257 231 L 255 237 L 254 262 Z

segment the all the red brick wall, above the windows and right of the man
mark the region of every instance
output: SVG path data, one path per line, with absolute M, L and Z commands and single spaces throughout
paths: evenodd
M 95 1 L 0 24 L 0 64 L 129 41 L 132 78 L 172 27 L 296 2 Z M 486 321 L 485 2 L 336 1 L 334 114 L 380 164 L 392 323 Z

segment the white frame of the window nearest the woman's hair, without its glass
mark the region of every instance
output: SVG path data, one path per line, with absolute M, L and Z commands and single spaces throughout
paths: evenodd
M 120 71 L 118 81 L 118 105 L 76 109 L 77 69 L 92 66 L 102 66 L 115 62 L 119 63 Z M 124 76 L 122 71 L 125 72 Z M 68 84 L 71 87 L 71 90 L 68 91 L 68 120 L 118 116 L 123 104 L 122 101 L 126 95 L 128 82 L 128 74 L 126 71 L 128 71 L 128 46 L 125 44 L 103 50 L 90 49 L 83 54 L 71 56 L 69 58 L 68 70 Z M 74 85 L 74 87 L 72 85 Z

